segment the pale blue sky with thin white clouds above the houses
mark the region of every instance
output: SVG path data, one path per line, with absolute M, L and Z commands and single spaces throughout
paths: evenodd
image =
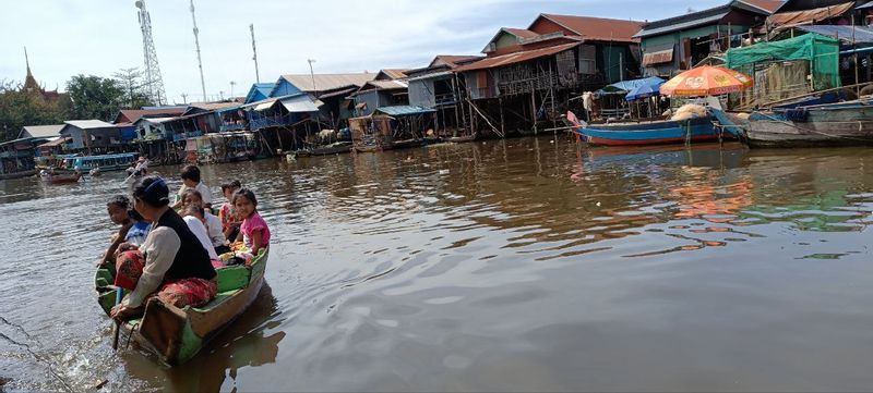
M 656 21 L 726 0 L 194 0 L 208 100 L 244 96 L 283 74 L 427 66 L 436 54 L 478 54 L 501 27 L 540 13 Z M 0 0 L 0 81 L 23 82 L 24 47 L 47 89 L 73 75 L 143 67 L 134 0 Z M 189 0 L 146 0 L 170 102 L 203 101 Z M 235 85 L 231 85 L 235 82 Z

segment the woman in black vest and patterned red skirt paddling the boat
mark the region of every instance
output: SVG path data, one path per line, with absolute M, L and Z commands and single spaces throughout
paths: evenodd
M 170 208 L 167 183 L 158 176 L 140 179 L 133 185 L 133 199 L 136 211 L 152 222 L 152 231 L 136 249 L 119 249 L 115 284 L 132 292 L 110 316 L 117 320 L 136 317 L 152 297 L 179 308 L 215 298 L 215 268 L 188 224 Z

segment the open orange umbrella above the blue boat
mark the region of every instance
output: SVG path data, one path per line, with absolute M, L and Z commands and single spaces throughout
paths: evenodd
M 704 65 L 685 71 L 661 85 L 665 96 L 718 96 L 741 91 L 754 85 L 745 74 L 723 66 Z

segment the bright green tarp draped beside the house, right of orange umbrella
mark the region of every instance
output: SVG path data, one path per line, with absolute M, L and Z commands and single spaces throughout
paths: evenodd
M 818 34 L 805 34 L 781 41 L 760 42 L 746 48 L 729 49 L 729 69 L 754 76 L 755 64 L 775 61 L 810 61 L 813 87 L 823 90 L 839 87 L 839 40 Z

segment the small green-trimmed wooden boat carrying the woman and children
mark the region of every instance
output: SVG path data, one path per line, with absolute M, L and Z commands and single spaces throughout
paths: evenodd
M 264 283 L 268 254 L 270 250 L 264 249 L 252 260 L 251 267 L 216 269 L 218 295 L 208 304 L 178 308 L 151 298 L 145 305 L 145 314 L 122 323 L 121 329 L 170 366 L 191 359 L 254 302 Z M 111 263 L 100 266 L 95 275 L 95 286 L 97 300 L 106 315 L 116 302 L 113 282 L 115 267 Z

